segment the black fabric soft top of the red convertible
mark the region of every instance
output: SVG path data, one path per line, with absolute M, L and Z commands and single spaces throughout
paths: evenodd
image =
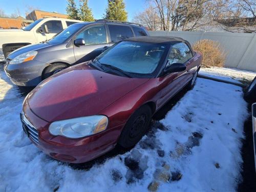
M 190 50 L 193 50 L 187 40 L 184 40 L 180 37 L 170 37 L 170 36 L 138 36 L 123 39 L 123 41 L 138 41 L 138 42 L 151 42 L 153 44 L 165 44 L 165 45 L 173 45 L 178 42 L 185 42 L 188 45 Z

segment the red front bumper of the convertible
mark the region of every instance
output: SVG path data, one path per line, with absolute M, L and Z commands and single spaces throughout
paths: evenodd
M 119 125 L 93 136 L 68 139 L 51 135 L 48 131 L 50 122 L 37 117 L 26 101 L 23 111 L 26 119 L 38 132 L 38 142 L 29 137 L 31 141 L 47 155 L 70 163 L 87 162 L 112 150 L 123 128 L 123 125 Z

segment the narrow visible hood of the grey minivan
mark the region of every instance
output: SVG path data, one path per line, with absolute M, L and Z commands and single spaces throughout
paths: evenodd
M 49 47 L 49 46 L 52 46 L 52 45 L 47 43 L 47 42 L 46 43 L 41 43 L 41 44 L 33 44 L 33 45 L 24 46 L 24 47 L 16 49 L 12 53 L 10 53 L 8 55 L 8 58 L 14 59 L 15 57 L 17 57 L 17 56 L 19 56 L 23 53 L 27 53 L 29 51 L 38 51 L 39 49 L 46 48 L 46 47 Z

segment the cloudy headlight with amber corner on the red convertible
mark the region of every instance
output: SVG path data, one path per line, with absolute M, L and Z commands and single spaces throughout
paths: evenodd
M 54 136 L 77 139 L 104 131 L 108 123 L 108 117 L 103 115 L 78 117 L 51 123 L 49 132 Z

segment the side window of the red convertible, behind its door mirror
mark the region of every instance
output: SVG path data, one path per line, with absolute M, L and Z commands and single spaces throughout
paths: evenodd
M 190 58 L 193 57 L 189 47 L 184 42 L 179 42 L 172 46 L 169 56 L 168 56 L 168 64 L 172 65 L 175 62 L 185 63 Z M 167 67 L 167 66 L 166 66 Z

